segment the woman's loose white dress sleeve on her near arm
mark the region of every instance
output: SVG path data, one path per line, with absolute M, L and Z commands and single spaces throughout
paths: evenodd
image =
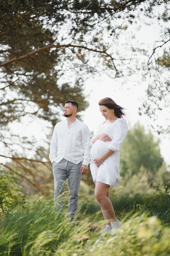
M 120 146 L 125 139 L 128 131 L 126 119 L 119 118 L 113 123 L 113 139 L 109 148 L 114 152 L 120 151 Z

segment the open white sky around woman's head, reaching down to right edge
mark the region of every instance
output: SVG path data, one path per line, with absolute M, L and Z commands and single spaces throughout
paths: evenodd
M 142 99 L 145 96 L 147 88 L 147 81 L 145 84 L 136 85 L 135 81 L 129 83 L 124 89 L 124 86 L 115 82 L 114 79 L 102 76 L 100 81 L 87 81 L 85 85 L 85 92 L 90 93 L 87 100 L 89 101 L 89 108 L 85 110 L 83 121 L 89 126 L 90 131 L 96 131 L 98 125 L 102 122 L 103 117 L 99 111 L 98 101 L 105 97 L 112 98 L 118 105 L 126 110 L 126 119 L 129 127 L 139 121 L 144 125 L 146 131 L 149 129 L 153 133 L 155 139 L 161 139 L 160 149 L 161 155 L 167 164 L 170 164 L 170 137 L 163 135 L 158 136 L 157 133 L 150 127 L 150 119 L 146 116 L 139 116 L 138 107 L 141 106 Z

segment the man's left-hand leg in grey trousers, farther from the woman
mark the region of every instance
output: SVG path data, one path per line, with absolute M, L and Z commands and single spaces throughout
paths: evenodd
M 56 162 L 52 163 L 52 171 L 54 175 L 54 206 L 56 210 L 59 210 L 63 204 L 62 194 L 67 179 L 67 164 L 68 161 L 65 159 L 62 159 L 58 164 Z

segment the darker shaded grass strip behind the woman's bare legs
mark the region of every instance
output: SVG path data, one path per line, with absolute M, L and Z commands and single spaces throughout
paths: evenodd
M 116 216 L 120 219 L 127 215 L 131 217 L 136 212 L 140 215 L 147 213 L 149 217 L 157 216 L 164 225 L 170 225 L 170 182 L 162 189 L 157 187 L 157 190 L 152 193 L 141 191 L 141 193 L 129 195 L 126 191 L 115 193 L 115 190 L 111 189 L 110 199 Z M 102 219 L 100 206 L 92 195 L 88 195 L 88 198 L 84 196 L 79 203 L 79 208 L 81 213 L 85 212 L 89 216 L 94 214 L 98 220 Z

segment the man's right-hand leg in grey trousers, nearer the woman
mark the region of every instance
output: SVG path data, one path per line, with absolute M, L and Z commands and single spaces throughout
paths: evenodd
M 75 220 L 78 207 L 78 191 L 81 182 L 81 168 L 82 162 L 73 164 L 68 162 L 68 188 L 69 188 L 69 203 L 68 203 L 68 217 L 71 221 Z

